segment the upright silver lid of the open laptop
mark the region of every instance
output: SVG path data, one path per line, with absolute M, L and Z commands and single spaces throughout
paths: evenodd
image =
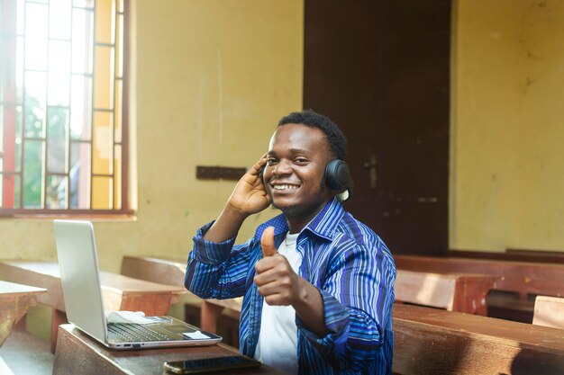
M 60 281 L 68 321 L 106 343 L 94 227 L 90 221 L 55 220 Z

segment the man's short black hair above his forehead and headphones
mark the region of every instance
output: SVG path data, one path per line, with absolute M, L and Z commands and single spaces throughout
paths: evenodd
M 333 156 L 344 160 L 347 156 L 347 138 L 342 134 L 341 129 L 329 118 L 314 112 L 305 110 L 302 112 L 292 112 L 278 121 L 278 126 L 286 124 L 303 124 L 311 128 L 323 131 Z

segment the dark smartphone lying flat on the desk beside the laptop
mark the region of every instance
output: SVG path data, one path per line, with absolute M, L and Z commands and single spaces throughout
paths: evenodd
M 214 357 L 202 360 L 165 362 L 164 368 L 166 371 L 175 374 L 199 374 L 203 372 L 259 367 L 260 364 L 259 361 L 253 360 L 252 358 L 243 355 L 233 355 L 230 357 Z

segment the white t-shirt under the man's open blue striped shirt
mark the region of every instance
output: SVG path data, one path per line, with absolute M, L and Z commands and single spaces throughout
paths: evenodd
M 302 255 L 296 251 L 298 236 L 299 233 L 287 234 L 278 247 L 278 253 L 286 256 L 297 274 L 302 265 Z M 293 307 L 270 306 L 264 302 L 255 359 L 278 371 L 297 375 L 296 310 Z

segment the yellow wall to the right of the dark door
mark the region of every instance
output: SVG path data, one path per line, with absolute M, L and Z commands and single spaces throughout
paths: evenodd
M 564 250 L 564 2 L 453 5 L 450 248 Z

